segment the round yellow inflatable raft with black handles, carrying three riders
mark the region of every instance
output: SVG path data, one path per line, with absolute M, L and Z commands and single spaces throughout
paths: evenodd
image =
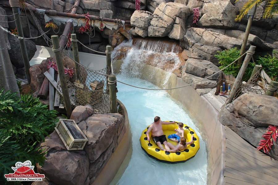
M 166 135 L 166 138 L 168 137 L 168 135 L 176 133 L 175 129 L 178 128 L 177 123 L 179 122 L 175 121 L 175 123 L 172 124 L 162 125 L 162 130 L 163 133 Z M 157 144 L 154 143 L 151 132 L 149 135 L 150 142 L 148 142 L 146 137 L 146 132 L 148 128 L 149 127 L 143 130 L 141 134 L 140 137 L 141 146 L 151 157 L 156 158 L 161 162 L 169 162 L 169 163 L 184 162 L 187 159 L 194 157 L 200 148 L 199 137 L 197 136 L 197 134 L 193 129 L 191 129 L 185 124 L 183 124 L 184 138 L 186 138 L 187 142 L 191 141 L 191 135 L 193 134 L 194 135 L 193 143 L 191 145 L 188 145 L 186 149 L 177 152 L 167 152 L 167 151 L 160 150 Z M 171 141 L 169 138 L 167 138 L 167 142 L 171 142 L 173 145 L 177 144 L 176 142 Z

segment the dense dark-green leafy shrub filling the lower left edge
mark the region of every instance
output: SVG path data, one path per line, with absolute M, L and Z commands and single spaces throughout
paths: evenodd
M 3 90 L 0 90 L 0 173 L 6 183 L 4 174 L 13 173 L 11 166 L 17 161 L 43 165 L 45 152 L 36 145 L 53 132 L 57 111 L 48 110 L 32 95 L 18 97 Z

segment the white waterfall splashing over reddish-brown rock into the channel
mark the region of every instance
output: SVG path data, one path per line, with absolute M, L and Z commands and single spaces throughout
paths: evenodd
M 125 76 L 139 76 L 144 64 L 165 70 L 167 72 L 163 83 L 165 87 L 172 72 L 181 63 L 177 55 L 181 51 L 181 47 L 172 41 L 133 39 L 118 45 L 112 52 L 112 59 L 113 62 L 118 59 L 123 61 L 120 73 Z

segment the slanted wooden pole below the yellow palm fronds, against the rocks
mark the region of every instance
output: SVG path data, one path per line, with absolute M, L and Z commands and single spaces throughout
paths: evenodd
M 244 35 L 244 39 L 242 41 L 239 56 L 243 55 L 243 53 L 245 51 L 245 47 L 246 47 L 246 44 L 247 44 L 248 36 L 249 36 L 250 30 L 251 30 L 251 26 L 252 26 L 252 22 L 253 22 L 253 18 L 254 18 L 256 9 L 257 9 L 257 5 L 254 5 L 248 11 L 248 14 L 247 14 L 248 23 L 247 23 L 247 26 L 246 26 L 245 35 Z M 238 64 L 237 64 L 238 66 L 240 66 L 242 64 L 242 58 L 243 58 L 243 56 L 238 59 Z

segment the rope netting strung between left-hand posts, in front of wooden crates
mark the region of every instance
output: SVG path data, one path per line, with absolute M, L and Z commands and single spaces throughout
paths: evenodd
M 65 51 L 63 54 L 70 57 Z M 77 63 L 74 59 L 72 60 L 76 66 L 72 78 L 77 78 L 75 81 L 73 79 L 67 80 L 72 107 L 91 105 L 97 113 L 110 113 L 109 87 L 107 86 L 109 68 L 92 70 Z M 76 74 L 79 74 L 79 78 Z M 61 87 L 60 82 L 57 82 L 57 87 Z M 60 103 L 63 103 L 62 97 Z

